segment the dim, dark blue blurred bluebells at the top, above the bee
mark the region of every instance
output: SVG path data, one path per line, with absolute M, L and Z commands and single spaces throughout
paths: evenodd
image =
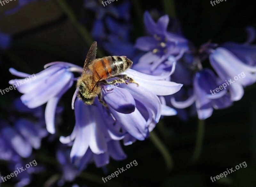
M 116 5 L 117 4 L 117 5 Z M 110 55 L 125 55 L 132 58 L 135 53 L 131 39 L 130 1 L 113 2 L 104 7 L 101 1 L 84 0 L 86 10 L 95 13 L 92 38 L 102 45 Z

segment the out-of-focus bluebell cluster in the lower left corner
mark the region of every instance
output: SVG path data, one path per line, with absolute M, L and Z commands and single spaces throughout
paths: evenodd
M 48 132 L 44 127 L 42 107 L 29 109 L 20 99 L 16 99 L 7 112 L 8 120 L 0 120 L 0 159 L 8 162 L 9 171 L 14 171 L 35 159 L 32 150 L 41 147 L 41 140 Z M 22 113 L 23 117 L 17 118 L 17 113 Z M 15 186 L 28 185 L 32 180 L 31 175 L 43 170 L 44 167 L 39 164 L 19 173 L 14 177 L 17 182 Z

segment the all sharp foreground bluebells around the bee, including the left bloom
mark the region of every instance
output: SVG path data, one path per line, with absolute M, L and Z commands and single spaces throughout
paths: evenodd
M 47 128 L 52 132 L 56 104 L 73 84 L 75 79 L 72 72 L 81 73 L 83 68 L 64 62 L 54 62 L 46 65 L 48 66 L 50 67 L 35 75 L 35 80 L 27 81 L 17 87 L 17 90 L 23 93 L 21 100 L 30 108 L 47 102 L 45 119 L 46 125 L 48 118 L 52 120 L 52 126 Z M 17 76 L 28 76 L 12 68 L 10 71 Z M 139 85 L 130 83 L 102 86 L 101 94 L 108 109 L 97 100 L 93 105 L 85 105 L 80 99 L 76 99 L 74 130 L 70 136 L 60 138 L 62 143 L 73 142 L 70 152 L 73 163 L 80 162 L 86 154 L 93 155 L 97 167 L 107 164 L 109 156 L 116 160 L 124 159 L 125 154 L 120 145 L 117 145 L 119 140 L 126 137 L 124 143 L 127 145 L 134 142 L 134 138 L 144 140 L 161 115 L 173 113 L 173 109 L 162 106 L 158 97 L 174 94 L 182 87 L 182 84 L 164 80 L 170 73 L 151 76 L 127 69 L 121 74 L 131 77 Z M 16 80 L 10 81 L 10 84 L 13 83 Z M 48 108 L 52 100 L 54 102 Z

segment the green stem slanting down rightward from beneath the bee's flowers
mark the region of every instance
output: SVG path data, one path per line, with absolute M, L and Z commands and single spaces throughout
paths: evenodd
M 156 135 L 155 132 L 151 132 L 149 136 L 150 140 L 153 142 L 153 144 L 156 146 L 156 148 L 160 151 L 160 153 L 163 155 L 167 170 L 170 171 L 173 168 L 173 162 L 172 162 L 172 156 L 169 153 L 167 147 L 164 146 L 164 143 L 161 142 L 159 137 Z

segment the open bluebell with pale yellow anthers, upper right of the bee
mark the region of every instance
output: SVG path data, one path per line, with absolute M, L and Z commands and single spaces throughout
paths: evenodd
M 177 61 L 189 50 L 187 39 L 167 31 L 168 23 L 168 15 L 162 16 L 155 23 L 148 12 L 144 14 L 144 24 L 149 36 L 138 38 L 135 47 L 147 52 L 138 63 L 152 64 L 151 71 L 170 56 Z

